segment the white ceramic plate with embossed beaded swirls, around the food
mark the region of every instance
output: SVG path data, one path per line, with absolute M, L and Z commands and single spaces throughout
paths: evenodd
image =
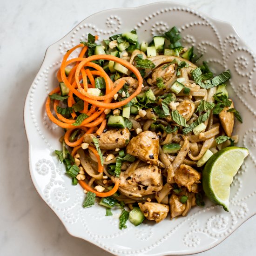
M 194 207 L 189 216 L 153 224 L 147 222 L 118 229 L 118 216 L 105 217 L 100 206 L 82 208 L 84 193 L 72 186 L 64 166 L 53 154 L 60 148 L 61 129 L 47 118 L 47 94 L 58 85 L 56 71 L 67 49 L 85 40 L 88 33 L 100 40 L 135 29 L 139 41 L 150 40 L 171 27 L 181 30 L 183 45 L 194 45 L 216 72 L 230 69 L 230 97 L 243 116 L 236 123 L 240 146 L 249 148 L 242 168 L 231 188 L 230 211 L 207 201 L 204 208 Z M 170 2 L 136 8 L 103 11 L 83 20 L 64 38 L 48 47 L 45 59 L 27 94 L 24 120 L 29 142 L 29 166 L 34 186 L 43 200 L 61 219 L 68 232 L 116 255 L 177 255 L 201 252 L 229 236 L 256 213 L 256 59 L 236 34 L 222 21 L 211 19 L 190 8 Z

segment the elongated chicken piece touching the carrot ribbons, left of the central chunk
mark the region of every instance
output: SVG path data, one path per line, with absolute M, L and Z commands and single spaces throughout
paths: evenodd
M 128 128 L 112 129 L 102 133 L 100 137 L 97 134 L 85 134 L 83 141 L 93 145 L 93 138 L 97 138 L 101 149 L 125 148 L 126 141 L 130 140 L 130 131 Z

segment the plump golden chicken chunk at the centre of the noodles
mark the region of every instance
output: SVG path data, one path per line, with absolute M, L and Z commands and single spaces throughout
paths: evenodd
M 128 143 L 126 151 L 142 161 L 157 165 L 159 138 L 151 131 L 141 132 Z

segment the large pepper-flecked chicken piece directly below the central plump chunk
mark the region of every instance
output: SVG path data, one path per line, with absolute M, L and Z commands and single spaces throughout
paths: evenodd
M 141 196 L 159 192 L 162 187 L 162 174 L 157 166 L 143 166 L 133 172 L 126 170 L 120 174 L 120 187 Z

